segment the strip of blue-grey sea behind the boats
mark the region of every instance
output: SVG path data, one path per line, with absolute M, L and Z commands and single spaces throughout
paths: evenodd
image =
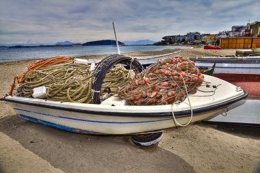
M 120 46 L 120 53 L 137 51 L 161 51 L 164 49 L 190 49 L 188 46 Z M 11 62 L 21 59 L 40 59 L 57 55 L 106 55 L 116 54 L 116 46 L 57 46 L 6 49 L 0 48 L 0 62 Z

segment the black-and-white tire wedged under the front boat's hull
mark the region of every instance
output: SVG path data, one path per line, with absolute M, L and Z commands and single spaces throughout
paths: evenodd
M 131 135 L 134 144 L 138 146 L 153 146 L 158 144 L 162 138 L 162 132 L 143 135 Z

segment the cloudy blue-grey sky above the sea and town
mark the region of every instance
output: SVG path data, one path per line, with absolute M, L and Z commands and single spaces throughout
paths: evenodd
M 159 41 L 199 31 L 217 34 L 260 21 L 260 0 L 0 0 L 0 45 Z

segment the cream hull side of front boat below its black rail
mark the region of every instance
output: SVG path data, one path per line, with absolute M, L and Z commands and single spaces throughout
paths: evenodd
M 38 122 L 57 129 L 73 131 L 75 133 L 88 133 L 100 135 L 133 134 L 148 131 L 158 131 L 177 127 L 173 117 L 123 117 L 84 114 L 73 111 L 49 109 L 18 103 L 11 103 L 17 114 L 26 120 Z M 204 120 L 216 114 L 220 114 L 224 108 L 195 114 L 192 122 Z M 177 117 L 177 121 L 186 124 L 190 120 L 190 114 Z

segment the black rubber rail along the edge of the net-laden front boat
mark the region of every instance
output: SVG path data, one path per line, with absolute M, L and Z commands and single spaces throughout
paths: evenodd
M 231 105 L 232 103 L 235 103 L 237 101 L 240 101 L 248 96 L 248 92 L 244 91 L 244 94 L 236 96 L 235 98 L 231 98 L 228 101 L 224 101 L 222 103 L 216 103 L 214 105 L 209 105 L 206 107 L 200 107 L 197 109 L 192 109 L 193 114 L 196 116 L 196 114 L 200 114 L 202 112 L 211 111 L 213 109 L 220 109 L 222 107 L 227 107 Z M 85 114 L 96 114 L 100 116 L 124 116 L 122 117 L 165 117 L 165 116 L 172 116 L 172 111 L 166 111 L 166 112 L 118 112 L 118 111 L 94 111 L 94 110 L 86 110 L 86 109 L 75 109 L 71 107 L 59 107 L 56 105 L 45 105 L 40 103 L 29 103 L 26 101 L 18 101 L 18 100 L 12 100 L 5 98 L 0 98 L 0 101 L 6 101 L 11 103 L 19 103 L 23 105 L 31 105 L 31 106 L 37 106 L 37 107 L 44 107 L 44 108 L 50 108 L 50 109 L 60 109 L 63 111 L 74 111 L 79 113 L 85 113 Z M 174 116 L 187 116 L 190 115 L 191 111 L 190 109 L 185 109 L 183 111 L 174 111 Z

